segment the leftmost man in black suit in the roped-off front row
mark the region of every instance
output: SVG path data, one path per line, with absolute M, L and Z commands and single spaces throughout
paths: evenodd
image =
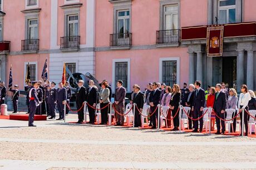
M 78 87 L 77 87 L 77 93 L 76 93 L 76 107 L 77 110 L 80 109 L 80 111 L 77 112 L 78 114 L 78 121 L 77 123 L 83 123 L 83 103 L 86 101 L 86 88 L 83 87 L 83 80 L 78 81 Z M 83 106 L 83 107 L 82 107 Z

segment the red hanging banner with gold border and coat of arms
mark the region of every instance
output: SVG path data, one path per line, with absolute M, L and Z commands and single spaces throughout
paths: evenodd
M 207 27 L 206 48 L 208 57 L 221 57 L 224 26 Z

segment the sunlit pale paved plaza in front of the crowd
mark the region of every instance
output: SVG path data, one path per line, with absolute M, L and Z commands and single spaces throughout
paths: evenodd
M 0 119 L 0 169 L 256 169 L 256 138 Z

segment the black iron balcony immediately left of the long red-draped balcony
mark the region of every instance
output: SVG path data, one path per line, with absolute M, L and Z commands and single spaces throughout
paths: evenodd
M 178 47 L 180 44 L 180 29 L 156 31 L 157 47 Z

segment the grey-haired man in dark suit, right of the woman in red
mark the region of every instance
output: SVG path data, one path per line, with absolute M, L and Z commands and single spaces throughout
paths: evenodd
M 226 95 L 223 91 L 221 91 L 221 84 L 216 84 L 216 93 L 215 93 L 215 101 L 213 104 L 213 109 L 215 114 L 220 118 L 225 119 L 225 109 L 226 105 Z M 216 134 L 220 134 L 220 119 L 216 116 L 216 126 L 217 132 Z M 221 121 L 221 133 L 225 133 L 225 122 Z

